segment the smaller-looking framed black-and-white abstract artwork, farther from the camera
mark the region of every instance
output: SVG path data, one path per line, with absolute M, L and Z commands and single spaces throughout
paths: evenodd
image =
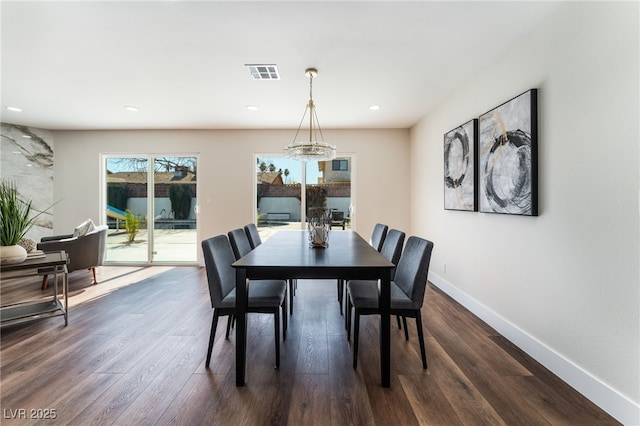
M 478 120 L 444 134 L 444 208 L 476 211 Z

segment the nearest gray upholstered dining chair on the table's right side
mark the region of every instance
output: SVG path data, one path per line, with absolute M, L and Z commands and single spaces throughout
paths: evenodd
M 395 278 L 391 281 L 391 315 L 416 319 L 422 368 L 427 368 L 427 356 L 424 348 L 421 308 L 427 287 L 429 262 L 433 243 L 411 236 L 400 256 Z M 353 368 L 358 365 L 358 341 L 361 315 L 379 315 L 378 287 L 368 281 L 351 280 L 347 283 L 347 309 L 353 307 Z M 406 330 L 406 326 L 405 326 Z

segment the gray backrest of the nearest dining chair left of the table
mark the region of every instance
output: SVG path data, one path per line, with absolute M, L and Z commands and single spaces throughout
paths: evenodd
M 202 240 L 202 252 L 207 271 L 211 306 L 216 308 L 236 287 L 236 273 L 231 266 L 236 258 L 226 235 Z

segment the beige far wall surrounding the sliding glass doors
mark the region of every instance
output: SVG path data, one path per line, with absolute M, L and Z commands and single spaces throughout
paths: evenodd
M 199 240 L 253 220 L 255 154 L 281 154 L 294 130 L 55 131 L 54 233 L 100 221 L 101 154 L 199 156 Z M 409 229 L 409 130 L 323 130 L 354 158 L 353 229 L 368 238 L 376 222 Z M 199 242 L 198 242 L 199 244 Z M 202 264 L 202 256 L 198 250 Z

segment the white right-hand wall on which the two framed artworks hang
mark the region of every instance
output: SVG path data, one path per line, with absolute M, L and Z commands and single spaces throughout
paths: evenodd
M 565 3 L 411 131 L 432 281 L 625 424 L 640 423 L 639 27 L 638 2 Z M 445 211 L 443 134 L 530 88 L 539 217 Z

